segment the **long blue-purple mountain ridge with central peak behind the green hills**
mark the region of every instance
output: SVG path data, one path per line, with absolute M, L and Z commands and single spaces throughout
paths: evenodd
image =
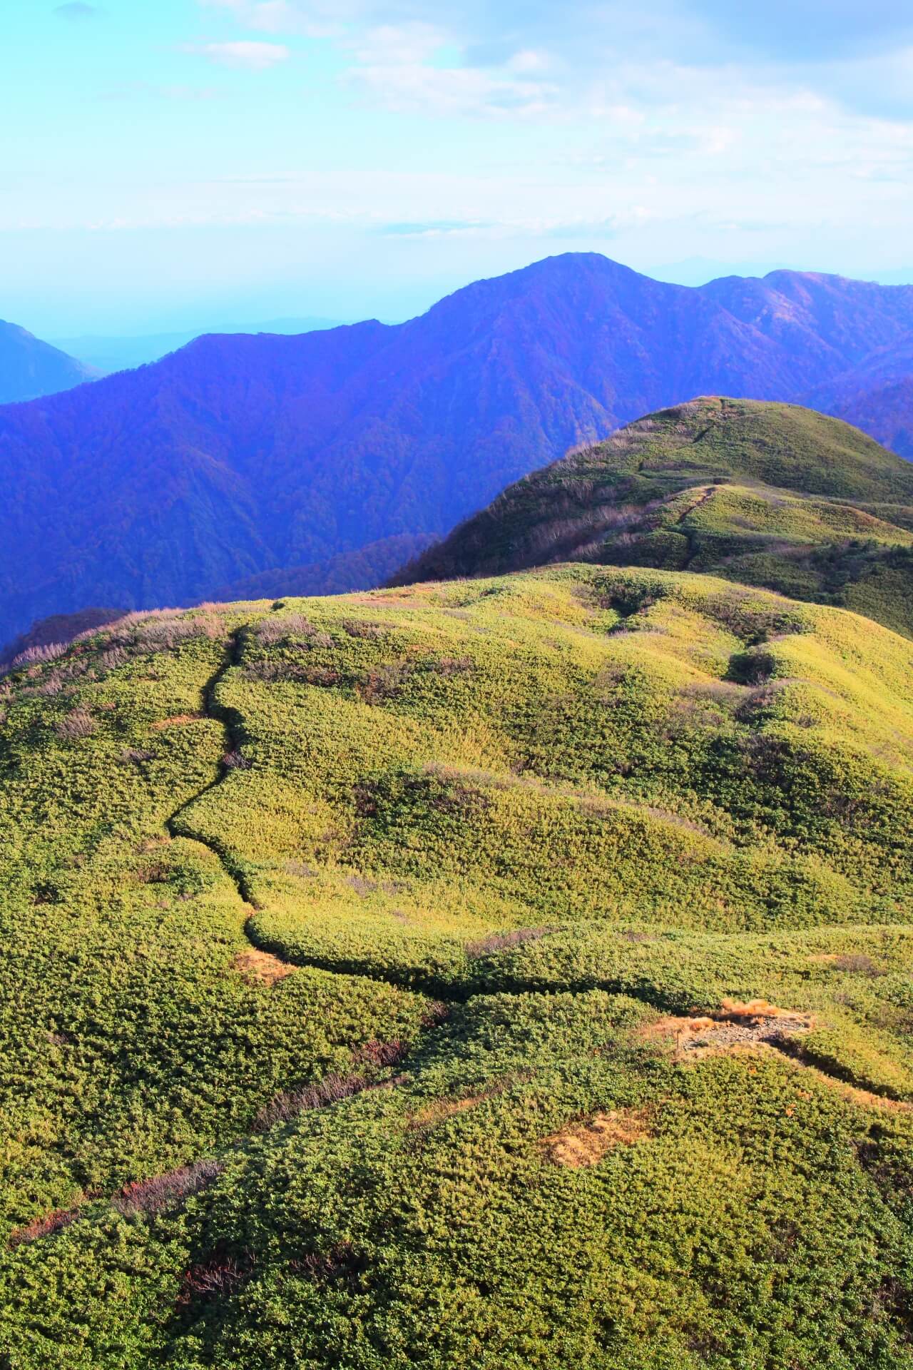
M 275 586 L 307 567 L 329 588 L 350 553 L 376 584 L 390 538 L 443 534 L 569 447 L 694 395 L 819 393 L 906 451 L 909 382 L 883 359 L 912 336 L 913 286 L 777 271 L 694 289 L 571 253 L 402 325 L 201 337 L 0 410 L 0 637 L 263 573 Z

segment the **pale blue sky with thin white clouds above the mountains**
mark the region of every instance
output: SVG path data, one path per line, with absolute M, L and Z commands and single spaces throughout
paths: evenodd
M 408 318 L 568 251 L 913 279 L 910 0 L 5 0 L 0 318 Z

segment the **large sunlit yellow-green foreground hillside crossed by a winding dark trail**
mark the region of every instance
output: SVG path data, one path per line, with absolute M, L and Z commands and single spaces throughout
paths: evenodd
M 11 1370 L 913 1366 L 905 637 L 575 564 L 47 658 Z

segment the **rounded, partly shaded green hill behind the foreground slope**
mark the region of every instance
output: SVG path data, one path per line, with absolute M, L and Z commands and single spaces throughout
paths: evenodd
M 549 562 L 710 571 L 913 636 L 913 466 L 790 404 L 663 410 L 548 466 L 396 578 Z

